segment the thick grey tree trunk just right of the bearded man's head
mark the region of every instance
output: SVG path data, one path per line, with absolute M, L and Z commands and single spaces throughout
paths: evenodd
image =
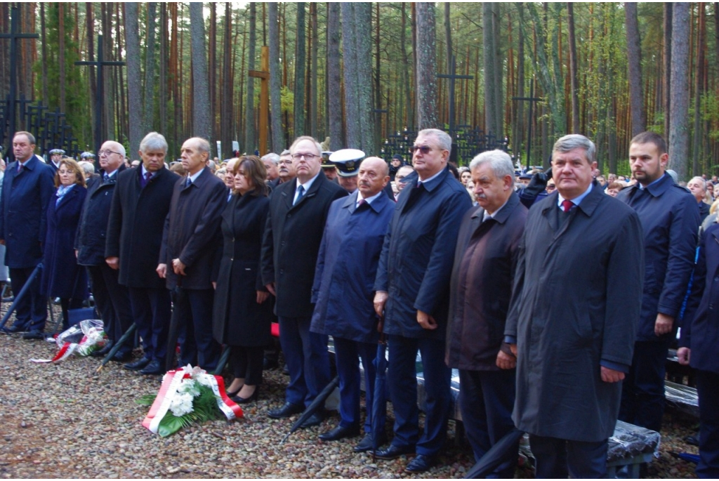
M 689 158 L 689 9 L 688 2 L 679 1 L 672 8 L 669 168 L 677 172 L 679 180 L 687 180 Z

